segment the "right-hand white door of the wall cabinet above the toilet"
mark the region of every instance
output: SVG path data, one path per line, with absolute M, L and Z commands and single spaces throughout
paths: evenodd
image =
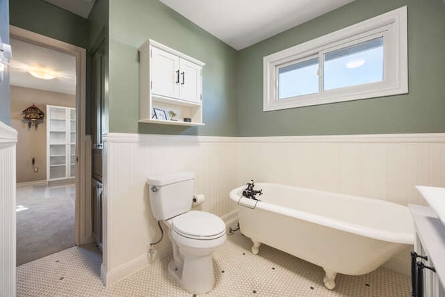
M 200 103 L 202 67 L 187 60 L 180 59 L 180 99 Z

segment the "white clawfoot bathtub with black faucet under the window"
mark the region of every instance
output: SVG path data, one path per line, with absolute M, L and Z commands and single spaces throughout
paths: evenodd
M 321 266 L 327 289 L 334 289 L 337 273 L 369 273 L 414 243 L 410 211 L 400 204 L 265 183 L 255 185 L 263 190 L 257 202 L 242 197 L 244 188 L 230 198 L 252 252 L 265 243 Z

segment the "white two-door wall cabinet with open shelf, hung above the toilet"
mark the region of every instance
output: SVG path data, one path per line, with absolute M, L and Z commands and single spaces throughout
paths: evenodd
M 202 67 L 195 58 L 154 40 L 140 48 L 140 120 L 167 125 L 201 126 Z M 161 109 L 165 119 L 156 118 Z M 168 111 L 177 115 L 171 120 Z M 191 122 L 184 122 L 191 118 Z

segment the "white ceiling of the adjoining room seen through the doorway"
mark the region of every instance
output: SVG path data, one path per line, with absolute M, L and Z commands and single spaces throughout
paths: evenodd
M 13 58 L 10 61 L 10 84 L 24 88 L 49 90 L 52 92 L 76 93 L 76 59 L 74 56 L 10 39 Z M 28 70 L 42 67 L 56 72 L 55 79 L 44 80 L 33 77 Z

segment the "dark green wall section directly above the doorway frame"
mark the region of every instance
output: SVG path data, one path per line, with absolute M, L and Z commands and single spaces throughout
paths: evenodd
M 42 0 L 10 0 L 10 24 L 87 48 L 88 21 Z

